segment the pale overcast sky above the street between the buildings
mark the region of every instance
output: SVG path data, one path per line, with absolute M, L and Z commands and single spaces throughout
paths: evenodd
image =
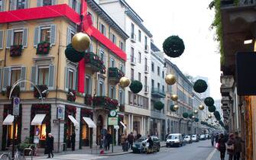
M 220 99 L 219 43 L 215 30 L 209 30 L 214 11 L 208 5 L 212 0 L 126 0 L 144 20 L 160 50 L 171 35 L 183 39 L 185 51 L 180 58 L 170 59 L 184 74 L 209 78 L 210 94 Z

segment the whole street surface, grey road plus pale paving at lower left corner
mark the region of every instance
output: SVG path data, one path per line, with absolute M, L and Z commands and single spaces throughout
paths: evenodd
M 228 157 L 226 156 L 226 159 Z M 45 157 L 34 157 L 33 159 L 46 160 Z M 125 155 L 112 155 L 112 156 L 99 156 L 99 155 L 86 155 L 86 154 L 68 154 L 68 155 L 55 155 L 52 160 L 89 160 L 89 159 L 102 159 L 102 160 L 219 160 L 219 152 L 210 146 L 210 141 L 193 142 L 180 148 L 166 148 L 160 149 L 160 152 L 154 154 L 134 154 L 128 153 Z

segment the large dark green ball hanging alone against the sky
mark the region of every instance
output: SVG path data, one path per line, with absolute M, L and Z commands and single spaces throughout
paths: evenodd
M 163 50 L 167 56 L 176 58 L 185 50 L 183 40 L 178 36 L 170 36 L 163 43 Z

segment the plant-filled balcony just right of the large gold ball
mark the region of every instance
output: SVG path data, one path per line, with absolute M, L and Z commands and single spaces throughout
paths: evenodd
M 92 72 L 104 72 L 105 66 L 103 61 L 99 59 L 99 56 L 89 52 L 85 55 L 86 68 L 92 70 Z

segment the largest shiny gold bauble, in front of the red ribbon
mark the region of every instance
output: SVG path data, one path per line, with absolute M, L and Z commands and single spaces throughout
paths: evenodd
M 79 32 L 72 38 L 72 46 L 78 52 L 85 52 L 89 48 L 91 40 L 87 34 Z

